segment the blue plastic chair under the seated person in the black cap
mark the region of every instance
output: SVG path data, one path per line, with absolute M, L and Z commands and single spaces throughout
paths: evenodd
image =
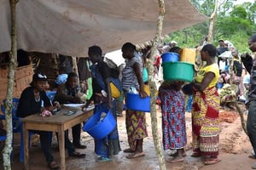
M 12 102 L 12 118 L 13 118 L 13 133 L 20 133 L 20 162 L 24 161 L 24 143 L 23 143 L 23 131 L 22 131 L 22 122 L 20 121 L 20 117 L 16 116 L 16 111 L 19 105 L 19 101 L 20 99 L 18 98 L 13 98 L 13 102 Z M 1 110 L 3 112 L 3 114 L 5 114 L 5 102 L 6 99 L 3 99 L 3 103 L 1 105 Z M 0 119 L 5 120 L 5 116 L 1 115 Z M 32 136 L 32 132 L 29 132 L 29 144 L 30 144 L 30 139 Z M 14 141 L 13 141 L 14 143 Z M 12 158 L 13 158 L 13 153 L 12 153 Z

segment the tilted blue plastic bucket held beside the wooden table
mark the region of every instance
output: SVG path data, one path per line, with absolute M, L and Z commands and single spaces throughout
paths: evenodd
M 102 113 L 107 113 L 101 120 Z M 104 139 L 116 127 L 116 120 L 110 110 L 97 111 L 85 122 L 83 130 L 96 140 Z

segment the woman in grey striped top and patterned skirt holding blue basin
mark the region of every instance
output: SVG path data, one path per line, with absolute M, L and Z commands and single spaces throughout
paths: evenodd
M 125 99 L 130 88 L 136 88 L 140 96 L 148 96 L 144 91 L 143 83 L 143 62 L 136 55 L 136 46 L 131 42 L 126 42 L 122 47 L 125 58 L 125 69 L 123 70 L 123 90 Z M 126 110 L 125 125 L 130 148 L 125 149 L 125 153 L 130 153 L 126 158 L 132 159 L 145 156 L 143 152 L 143 139 L 148 136 L 145 112 Z

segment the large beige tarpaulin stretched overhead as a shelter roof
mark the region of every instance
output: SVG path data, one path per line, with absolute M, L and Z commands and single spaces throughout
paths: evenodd
M 207 20 L 189 0 L 166 0 L 163 33 Z M 124 42 L 154 38 L 157 0 L 20 0 L 17 3 L 18 48 L 42 53 L 87 56 L 91 45 L 107 53 Z M 0 0 L 0 53 L 9 51 L 9 0 Z

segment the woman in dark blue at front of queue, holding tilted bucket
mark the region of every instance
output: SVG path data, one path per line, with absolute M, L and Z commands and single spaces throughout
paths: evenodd
M 116 109 L 115 100 L 112 99 L 111 89 L 110 89 L 110 77 L 111 71 L 107 63 L 103 61 L 102 49 L 98 46 L 92 46 L 89 48 L 88 55 L 91 65 L 92 74 L 92 85 L 93 85 L 93 95 L 84 105 L 87 108 L 90 102 L 93 100 L 95 104 L 95 114 L 98 111 L 106 111 L 110 109 L 108 113 L 113 114 L 116 122 Z M 102 88 L 101 85 L 105 85 Z M 106 89 L 106 90 L 105 90 Z M 85 123 L 86 125 L 86 123 Z M 84 126 L 85 126 L 84 125 Z M 104 129 L 102 129 L 103 131 Z M 121 150 L 119 144 L 119 133 L 117 126 L 113 128 L 113 131 L 108 134 L 104 139 L 95 139 L 95 152 L 99 157 L 96 161 L 110 161 L 111 156 L 117 155 Z

